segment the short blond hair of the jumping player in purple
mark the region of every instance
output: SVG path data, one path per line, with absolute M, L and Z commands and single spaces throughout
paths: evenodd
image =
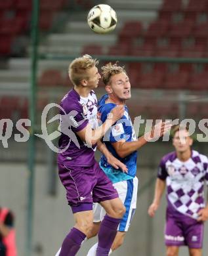
M 68 73 L 70 80 L 74 85 L 80 85 L 83 79 L 89 79 L 88 70 L 98 64 L 98 60 L 93 59 L 90 55 L 85 54 L 79 58 L 75 58 L 70 63 Z

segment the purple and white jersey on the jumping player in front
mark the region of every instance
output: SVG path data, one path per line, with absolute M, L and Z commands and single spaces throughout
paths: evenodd
M 87 146 L 76 133 L 84 129 L 88 123 L 93 129 L 97 126 L 97 99 L 94 91 L 84 98 L 72 89 L 64 96 L 60 106 L 62 135 L 58 146 L 63 152 L 58 153 L 58 163 L 69 167 L 93 165 L 96 147 Z

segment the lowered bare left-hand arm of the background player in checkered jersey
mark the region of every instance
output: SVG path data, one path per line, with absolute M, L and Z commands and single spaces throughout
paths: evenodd
M 159 207 L 159 204 L 161 202 L 161 197 L 163 196 L 164 190 L 165 190 L 165 181 L 157 178 L 154 200 L 148 209 L 148 214 L 150 215 L 150 217 L 154 217 L 154 215 Z

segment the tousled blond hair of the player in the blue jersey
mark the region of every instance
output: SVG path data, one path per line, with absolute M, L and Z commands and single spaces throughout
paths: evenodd
M 110 83 L 110 79 L 112 75 L 117 75 L 121 73 L 127 74 L 125 71 L 125 66 L 121 67 L 118 66 L 118 62 L 115 62 L 115 64 L 112 64 L 112 62 L 109 62 L 105 66 L 102 66 L 102 81 L 105 85 L 108 85 Z

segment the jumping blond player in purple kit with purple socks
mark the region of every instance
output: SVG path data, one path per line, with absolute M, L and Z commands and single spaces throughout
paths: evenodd
M 100 203 L 106 210 L 98 232 L 98 256 L 108 255 L 125 213 L 125 206 L 112 182 L 94 159 L 96 145 L 103 154 L 110 154 L 100 139 L 124 114 L 123 106 L 115 106 L 106 121 L 98 126 L 97 100 L 93 91 L 100 79 L 97 64 L 98 61 L 89 55 L 72 61 L 69 76 L 74 87 L 60 104 L 62 135 L 58 174 L 75 219 L 75 226 L 62 243 L 60 256 L 76 255 L 81 247 L 93 225 L 93 202 Z M 115 161 L 116 164 L 119 165 L 119 161 Z

